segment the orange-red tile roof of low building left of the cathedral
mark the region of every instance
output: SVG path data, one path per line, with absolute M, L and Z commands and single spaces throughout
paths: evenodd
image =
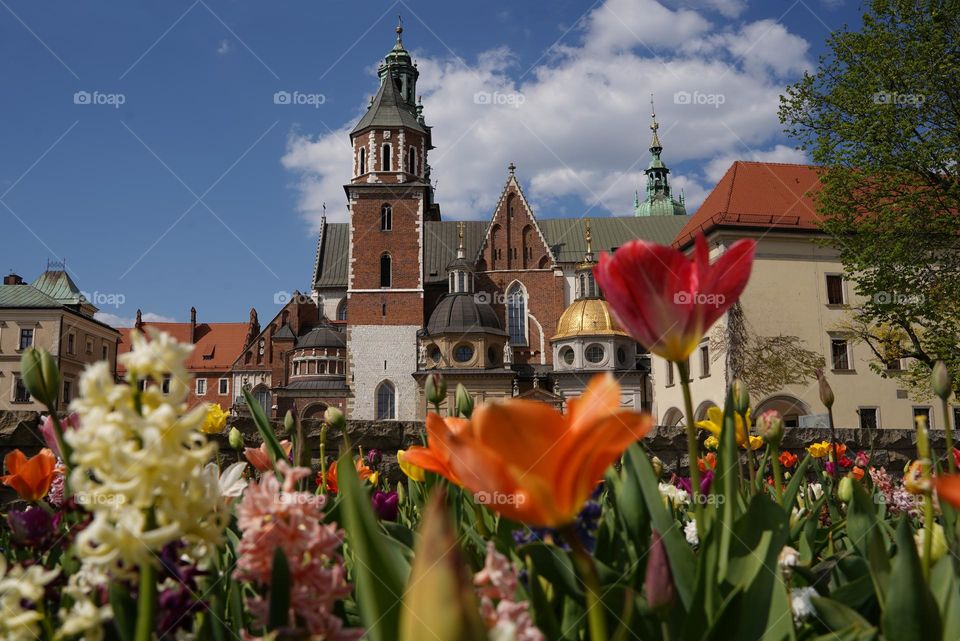
M 190 323 L 144 323 L 143 326 L 166 332 L 181 343 L 190 342 Z M 247 323 L 197 323 L 197 342 L 187 360 L 187 369 L 191 372 L 229 370 L 246 347 L 248 329 Z M 118 355 L 130 351 L 132 331 L 132 327 L 120 329 Z M 124 373 L 119 361 L 117 371 Z

